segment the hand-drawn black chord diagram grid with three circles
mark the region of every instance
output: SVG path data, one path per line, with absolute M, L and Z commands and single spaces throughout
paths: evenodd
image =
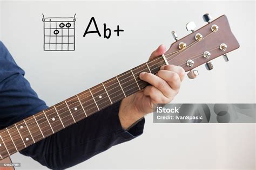
M 43 17 L 44 51 L 75 51 L 75 16 Z

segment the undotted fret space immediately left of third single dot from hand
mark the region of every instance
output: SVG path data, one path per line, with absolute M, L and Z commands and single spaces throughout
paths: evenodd
M 45 138 L 54 133 L 51 129 L 50 123 L 48 122 L 48 118 L 43 111 L 36 114 L 35 119 Z

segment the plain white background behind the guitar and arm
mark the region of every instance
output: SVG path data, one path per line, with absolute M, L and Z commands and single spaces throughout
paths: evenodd
M 255 2 L 140 1 L 140 2 L 0 2 L 0 38 L 26 72 L 26 79 L 48 105 L 63 101 L 145 62 L 160 44 L 181 38 L 202 15 L 227 15 L 240 48 L 213 61 L 210 72 L 200 66 L 197 79 L 185 79 L 175 103 L 255 103 Z M 76 51 L 44 52 L 45 17 L 76 15 Z M 83 33 L 95 17 L 120 37 Z M 93 28 L 93 27 L 92 27 Z M 22 114 L 22 113 L 21 113 Z M 17 169 L 45 168 L 16 153 Z M 255 124 L 153 124 L 146 116 L 144 134 L 79 164 L 82 168 L 255 168 Z

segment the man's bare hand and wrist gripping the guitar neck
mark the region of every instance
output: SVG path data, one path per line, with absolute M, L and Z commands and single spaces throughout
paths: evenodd
M 160 45 L 150 56 L 150 60 L 165 53 L 164 45 Z M 185 71 L 174 65 L 162 66 L 159 72 L 140 73 L 141 80 L 150 83 L 145 89 L 123 99 L 119 109 L 119 119 L 123 129 L 153 111 L 153 104 L 170 103 L 178 94 Z

